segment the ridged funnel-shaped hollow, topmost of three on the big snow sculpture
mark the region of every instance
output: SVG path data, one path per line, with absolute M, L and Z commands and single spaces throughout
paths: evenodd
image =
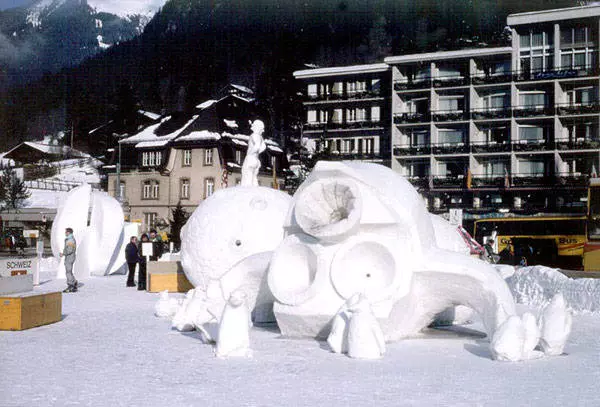
M 358 227 L 362 199 L 350 179 L 322 179 L 298 197 L 294 215 L 307 234 L 327 241 L 339 241 Z

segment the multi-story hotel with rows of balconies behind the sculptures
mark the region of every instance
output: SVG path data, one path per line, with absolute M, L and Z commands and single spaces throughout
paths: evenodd
M 596 5 L 512 14 L 511 46 L 298 71 L 309 95 L 304 137 L 335 143 L 340 154 L 356 146 L 364 133 L 323 129 L 353 125 L 358 101 L 321 89 L 347 95 L 357 78 L 377 75 L 382 93 L 359 101 L 389 118 L 377 129 L 378 158 L 413 182 L 430 210 L 581 212 L 600 170 L 599 21 Z M 365 117 L 360 126 L 371 124 Z

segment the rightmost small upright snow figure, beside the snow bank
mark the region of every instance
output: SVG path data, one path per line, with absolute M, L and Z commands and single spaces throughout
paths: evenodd
M 563 353 L 571 333 L 572 316 L 565 298 L 558 293 L 542 311 L 540 317 L 540 347 L 546 355 Z

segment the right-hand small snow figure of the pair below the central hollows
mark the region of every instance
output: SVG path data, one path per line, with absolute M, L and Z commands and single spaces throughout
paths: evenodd
M 385 339 L 364 295 L 352 305 L 348 323 L 348 356 L 355 359 L 380 359 L 385 353 Z

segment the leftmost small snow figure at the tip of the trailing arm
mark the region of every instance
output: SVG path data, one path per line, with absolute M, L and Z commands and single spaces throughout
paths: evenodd
M 494 332 L 491 343 L 492 357 L 505 362 L 517 362 L 523 359 L 525 326 L 517 315 L 511 315 Z

